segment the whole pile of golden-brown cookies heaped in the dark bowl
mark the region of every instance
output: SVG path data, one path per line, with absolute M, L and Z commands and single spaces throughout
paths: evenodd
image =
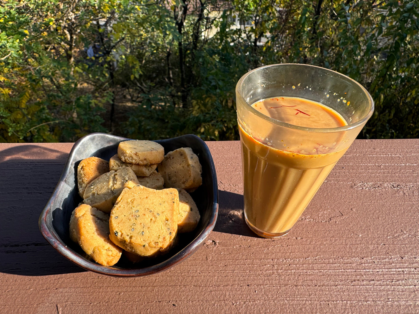
M 199 222 L 188 191 L 202 184 L 201 172 L 191 148 L 164 155 L 151 141 L 121 142 L 109 163 L 82 160 L 83 204 L 72 213 L 71 239 L 101 265 L 114 265 L 122 253 L 139 262 L 168 252 L 178 233 L 193 231 Z

